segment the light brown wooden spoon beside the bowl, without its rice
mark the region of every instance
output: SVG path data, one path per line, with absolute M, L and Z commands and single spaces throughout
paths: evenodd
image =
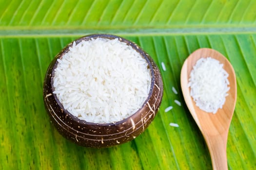
M 223 64 L 223 68 L 228 72 L 230 90 L 226 97 L 222 109 L 218 109 L 216 114 L 207 113 L 196 106 L 193 98 L 190 96 L 188 79 L 193 66 L 199 58 L 211 57 L 217 59 Z M 231 119 L 236 105 L 236 74 L 230 62 L 218 51 L 202 48 L 194 51 L 185 60 L 180 74 L 181 89 L 184 100 L 190 113 L 195 119 L 211 154 L 214 170 L 228 170 L 227 165 L 227 138 Z

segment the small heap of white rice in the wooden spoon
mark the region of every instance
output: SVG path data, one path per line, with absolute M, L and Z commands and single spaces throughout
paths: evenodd
M 225 103 L 230 89 L 228 73 L 223 64 L 211 57 L 200 58 L 193 67 L 188 85 L 190 95 L 203 111 L 216 113 Z

